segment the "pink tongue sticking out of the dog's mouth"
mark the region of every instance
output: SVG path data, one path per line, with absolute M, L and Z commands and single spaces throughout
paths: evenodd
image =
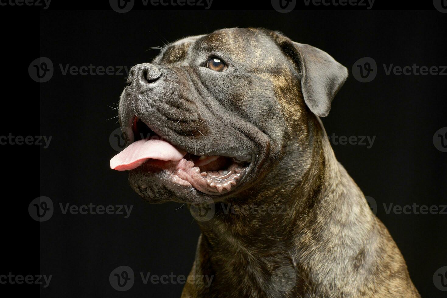
M 186 152 L 179 151 L 170 143 L 158 140 L 139 140 L 110 159 L 110 168 L 118 171 L 138 168 L 148 159 L 180 160 Z

